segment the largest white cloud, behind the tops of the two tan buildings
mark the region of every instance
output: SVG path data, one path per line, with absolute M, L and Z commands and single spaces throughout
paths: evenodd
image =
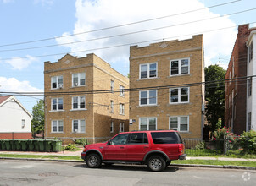
M 158 18 L 164 15 L 179 14 L 198 8 L 205 8 L 205 6 L 198 0 L 77 0 L 75 3 L 75 8 L 77 21 L 75 23 L 73 33 L 81 33 L 88 30 L 97 30 L 114 25 L 123 25 L 144 19 Z M 216 16 L 219 16 L 219 14 L 214 14 L 210 12 L 209 9 L 203 9 L 189 14 L 180 14 L 165 19 L 157 19 L 144 22 L 142 24 L 127 25 L 111 30 L 102 30 L 83 35 L 58 38 L 56 41 L 59 44 L 73 41 L 85 41 L 92 38 L 120 35 L 139 30 L 158 28 L 161 26 L 178 25 L 181 23 L 187 23 Z M 173 26 L 163 30 L 147 31 L 140 34 L 81 42 L 66 47 L 69 47 L 71 52 L 76 52 L 93 48 L 117 46 L 126 43 L 128 44 L 140 41 L 151 41 L 169 37 L 172 38 L 168 40 L 175 40 L 177 38 L 185 38 L 184 35 L 192 36 L 192 34 L 195 33 L 203 33 L 204 30 L 217 30 L 234 25 L 236 24 L 232 22 L 231 19 L 228 17 L 223 17 L 218 19 L 199 21 L 192 24 Z M 64 33 L 63 36 L 68 34 L 70 33 Z M 210 64 L 214 57 L 231 54 L 236 35 L 236 28 L 203 33 L 206 66 Z M 148 43 L 143 45 L 146 44 Z M 75 55 L 81 57 L 90 52 L 94 52 L 99 57 L 103 57 L 103 59 L 109 63 L 123 61 L 124 65 L 126 65 L 129 61 L 129 46 L 115 47 L 104 50 L 94 50 L 83 53 L 77 52 Z

